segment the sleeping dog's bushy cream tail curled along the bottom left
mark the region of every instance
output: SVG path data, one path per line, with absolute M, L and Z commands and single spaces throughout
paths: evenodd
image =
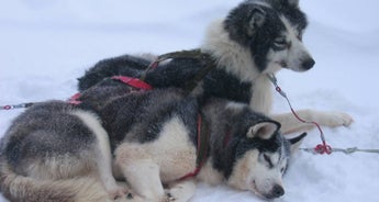
M 93 178 L 36 180 L 0 165 L 0 191 L 18 202 L 104 202 L 110 201 L 102 184 Z

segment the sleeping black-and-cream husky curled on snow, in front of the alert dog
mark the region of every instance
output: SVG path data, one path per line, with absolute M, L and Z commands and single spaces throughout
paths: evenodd
M 288 141 L 279 123 L 248 105 L 202 103 L 179 89 L 109 99 L 99 115 L 85 105 L 48 101 L 13 121 L 0 152 L 0 190 L 9 200 L 188 201 L 194 180 L 278 198 L 290 154 L 305 136 Z M 125 197 L 113 176 L 133 193 Z

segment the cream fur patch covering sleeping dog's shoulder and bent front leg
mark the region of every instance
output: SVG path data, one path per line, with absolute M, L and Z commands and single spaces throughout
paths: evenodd
M 157 139 L 144 144 L 123 143 L 118 147 L 116 162 L 140 197 L 147 201 L 164 199 L 163 182 L 175 182 L 196 169 L 197 150 L 188 133 L 185 124 L 172 117 L 164 124 Z M 172 190 L 176 194 L 181 192 L 179 187 Z M 193 194 L 191 186 L 186 190 L 183 198 Z

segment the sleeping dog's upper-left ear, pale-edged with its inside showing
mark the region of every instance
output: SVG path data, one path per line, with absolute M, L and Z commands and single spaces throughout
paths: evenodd
M 280 124 L 277 122 L 260 122 L 248 128 L 247 137 L 260 137 L 263 139 L 270 138 L 275 132 L 280 128 Z

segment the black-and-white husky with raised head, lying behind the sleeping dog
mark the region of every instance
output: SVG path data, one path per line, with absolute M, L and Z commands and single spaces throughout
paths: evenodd
M 315 61 L 302 43 L 308 22 L 299 0 L 246 0 L 225 19 L 209 29 L 200 49 L 210 55 L 215 68 L 193 90 L 204 98 L 218 97 L 244 102 L 254 111 L 270 115 L 283 133 L 310 130 L 292 114 L 271 114 L 272 89 L 268 75 L 280 69 L 306 71 Z M 79 90 L 88 89 L 105 77 L 124 75 L 140 78 L 152 57 L 120 56 L 99 61 L 79 78 Z M 180 87 L 204 68 L 202 59 L 174 58 L 147 74 L 154 88 Z M 302 110 L 305 120 L 325 126 L 348 126 L 353 119 L 343 112 Z

